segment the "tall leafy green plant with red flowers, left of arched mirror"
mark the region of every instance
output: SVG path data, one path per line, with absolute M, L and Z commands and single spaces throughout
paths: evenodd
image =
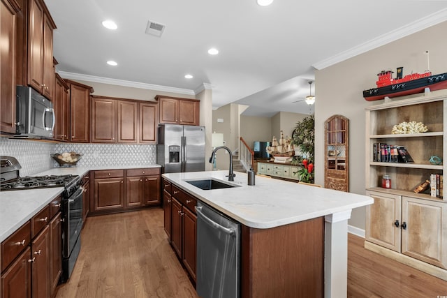
M 315 117 L 311 115 L 298 121 L 292 134 L 292 144 L 300 152 L 294 156 L 292 164 L 301 165 L 293 174 L 297 174 L 302 182 L 314 183 L 314 141 Z

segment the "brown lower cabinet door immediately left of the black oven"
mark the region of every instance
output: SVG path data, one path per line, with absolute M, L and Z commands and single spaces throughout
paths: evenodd
M 62 273 L 61 212 L 50 221 L 50 297 L 53 297 Z

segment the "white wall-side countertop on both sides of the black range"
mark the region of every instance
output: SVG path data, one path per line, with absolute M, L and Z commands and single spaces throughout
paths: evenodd
M 30 176 L 73 174 L 84 176 L 90 170 L 137 169 L 160 165 L 114 165 L 107 167 L 54 167 Z M 0 242 L 29 221 L 46 204 L 64 191 L 63 187 L 0 192 Z

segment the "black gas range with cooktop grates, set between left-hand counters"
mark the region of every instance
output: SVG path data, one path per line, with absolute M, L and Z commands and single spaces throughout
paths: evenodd
M 82 229 L 82 179 L 78 175 L 45 175 L 20 177 L 20 163 L 12 156 L 0 156 L 0 191 L 64 187 L 62 193 L 62 275 L 67 281 L 80 252 Z

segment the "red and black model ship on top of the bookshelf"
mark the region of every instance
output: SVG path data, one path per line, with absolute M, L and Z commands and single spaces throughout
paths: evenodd
M 426 70 L 425 73 L 411 73 L 402 77 L 403 67 L 397 68 L 397 75 L 393 78 L 393 71 L 381 71 L 377 74 L 377 88 L 363 91 L 365 100 L 380 100 L 385 97 L 393 98 L 423 92 L 425 88 L 430 91 L 447 88 L 447 73 L 432 75 Z

